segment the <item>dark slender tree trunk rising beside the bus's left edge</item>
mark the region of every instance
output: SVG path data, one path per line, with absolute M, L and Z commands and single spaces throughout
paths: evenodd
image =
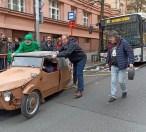
M 99 47 L 98 47 L 98 61 L 100 61 L 100 51 L 101 51 L 101 45 L 103 43 L 103 31 L 101 27 L 101 20 L 104 16 L 104 0 L 101 0 L 101 11 L 100 11 L 100 25 L 99 25 Z

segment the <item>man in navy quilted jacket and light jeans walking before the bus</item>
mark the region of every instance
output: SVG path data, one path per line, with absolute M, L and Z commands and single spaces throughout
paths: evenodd
M 111 99 L 114 102 L 117 98 L 117 76 L 119 75 L 119 84 L 122 90 L 122 98 L 127 97 L 127 88 L 125 84 L 126 69 L 128 65 L 133 68 L 134 54 L 129 43 L 117 32 L 112 30 L 109 34 L 109 48 L 106 60 L 106 67 L 111 69 Z

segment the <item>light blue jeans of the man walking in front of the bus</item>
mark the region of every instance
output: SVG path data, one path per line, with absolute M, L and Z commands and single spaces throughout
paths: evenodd
M 126 69 L 119 70 L 118 67 L 112 66 L 111 67 L 111 96 L 113 98 L 117 98 L 116 91 L 117 91 L 117 77 L 119 75 L 119 84 L 121 86 L 121 90 L 123 93 L 127 92 L 126 84 L 125 84 L 125 77 L 126 77 Z

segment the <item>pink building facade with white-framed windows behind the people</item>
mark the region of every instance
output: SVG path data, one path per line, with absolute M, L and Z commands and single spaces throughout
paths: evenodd
M 89 26 L 99 22 L 100 5 L 92 5 L 84 0 L 43 0 L 44 23 L 40 24 L 40 40 L 44 35 L 52 34 L 58 38 L 62 34 L 70 34 L 67 14 L 76 11 L 76 28 L 73 36 L 86 52 L 98 51 L 99 28 L 95 27 L 89 34 Z M 106 0 L 104 18 L 120 15 L 119 8 L 112 8 Z M 122 0 L 121 0 L 122 1 Z M 34 35 L 35 16 L 33 0 L 1 0 L 0 30 L 7 37 L 18 37 L 23 41 L 27 33 Z M 124 9 L 125 10 L 125 9 Z

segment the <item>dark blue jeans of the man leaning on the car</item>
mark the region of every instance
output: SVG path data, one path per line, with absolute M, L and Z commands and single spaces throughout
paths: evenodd
M 73 64 L 73 83 L 76 84 L 78 80 L 78 91 L 80 92 L 82 92 L 84 88 L 83 70 L 85 65 L 86 60 Z

